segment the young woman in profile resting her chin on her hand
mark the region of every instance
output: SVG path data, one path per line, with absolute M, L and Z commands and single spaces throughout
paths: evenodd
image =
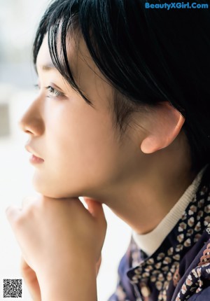
M 111 301 L 209 300 L 210 11 L 197 4 L 57 0 L 43 15 L 20 123 L 41 197 L 6 211 L 34 301 L 97 300 L 103 203 L 133 229 Z

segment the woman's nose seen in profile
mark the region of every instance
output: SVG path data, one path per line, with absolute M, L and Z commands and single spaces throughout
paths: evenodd
M 34 101 L 25 112 L 19 122 L 23 132 L 34 137 L 40 136 L 45 130 L 44 120 L 41 116 L 41 108 L 37 101 Z

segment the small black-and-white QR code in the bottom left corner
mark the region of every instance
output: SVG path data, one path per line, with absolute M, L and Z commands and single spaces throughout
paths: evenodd
M 4 298 L 22 298 L 22 279 L 3 279 Z

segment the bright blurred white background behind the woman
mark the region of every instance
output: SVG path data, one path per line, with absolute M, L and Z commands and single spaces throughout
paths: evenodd
M 3 300 L 3 279 L 21 278 L 21 253 L 5 210 L 10 204 L 21 207 L 22 198 L 34 194 L 33 167 L 24 148 L 27 137 L 20 132 L 18 120 L 36 93 L 31 45 L 38 20 L 48 3 L 45 0 L 0 0 L 0 300 Z M 131 234 L 123 221 L 107 207 L 104 210 L 108 230 L 97 279 L 98 301 L 107 301 L 116 288 L 118 263 Z M 31 301 L 25 284 L 22 300 Z

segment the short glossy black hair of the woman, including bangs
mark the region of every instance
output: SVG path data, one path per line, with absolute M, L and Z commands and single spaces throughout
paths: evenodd
M 34 64 L 48 32 L 53 64 L 91 105 L 66 55 L 66 36 L 79 29 L 93 61 L 116 91 L 116 125 L 122 130 L 139 107 L 169 102 L 186 118 L 183 130 L 198 171 L 209 163 L 210 154 L 210 8 L 146 9 L 146 2 L 151 1 L 52 1 L 36 32 Z

